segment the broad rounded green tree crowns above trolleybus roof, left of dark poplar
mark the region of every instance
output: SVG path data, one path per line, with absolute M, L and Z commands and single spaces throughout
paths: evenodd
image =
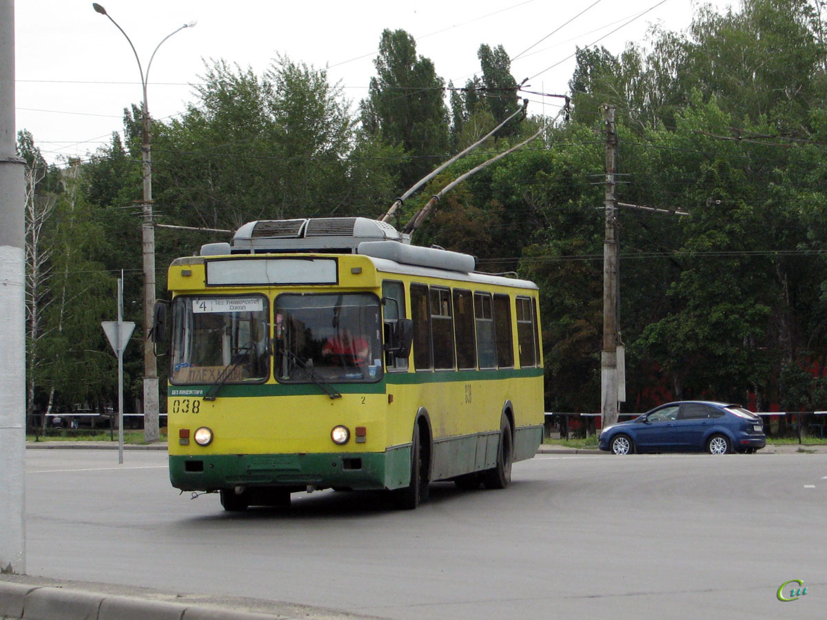
M 356 131 L 326 71 L 279 57 L 259 78 L 216 62 L 198 95 L 154 149 L 156 202 L 177 223 L 234 230 L 255 219 L 375 214 L 380 195 L 390 201 L 393 151 Z

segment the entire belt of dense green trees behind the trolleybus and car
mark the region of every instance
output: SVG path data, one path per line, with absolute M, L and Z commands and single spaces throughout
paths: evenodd
M 821 9 L 817 0 L 699 7 L 686 32 L 653 27 L 619 55 L 577 50 L 571 121 L 467 179 L 417 231 L 420 244 L 538 283 L 549 410 L 600 406 L 605 103 L 618 111 L 620 201 L 691 214 L 619 214 L 624 411 L 679 397 L 827 407 Z M 209 62 L 184 114 L 153 124 L 158 219 L 232 230 L 258 218 L 379 216 L 519 106 L 503 47 L 480 45 L 478 58 L 480 74 L 446 95 L 414 38 L 385 30 L 356 110 L 325 70 L 287 57 L 261 75 Z M 509 125 L 407 210 L 543 122 Z M 140 299 L 139 129 L 133 106 L 123 139 L 63 171 L 21 136 L 39 229 L 29 240 L 39 406 L 50 393 L 112 398 L 99 321 L 113 312 L 112 273 L 127 269 L 127 298 Z M 169 260 L 217 236 L 159 230 L 160 288 Z M 127 303 L 127 318 L 140 322 L 139 307 Z M 134 375 L 138 348 L 127 359 Z

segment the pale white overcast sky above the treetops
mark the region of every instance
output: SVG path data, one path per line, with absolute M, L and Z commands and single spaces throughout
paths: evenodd
M 577 46 L 585 47 L 605 36 L 597 45 L 618 54 L 628 41 L 645 42 L 648 26 L 653 23 L 685 31 L 696 5 L 693 0 L 597 0 L 590 7 L 592 2 L 595 0 L 99 3 L 131 38 L 145 71 L 155 45 L 184 23 L 198 21 L 194 28 L 166 41 L 153 60 L 149 108 L 152 117 L 165 119 L 183 112 L 185 103 L 194 101 L 190 84 L 197 83 L 203 74 L 203 59 L 224 59 L 261 75 L 276 53 L 316 69 L 328 67 L 329 80 L 341 81 L 355 109 L 375 75 L 373 60 L 385 28 L 408 31 L 416 40 L 418 55 L 431 59 L 437 74 L 446 83 L 453 80 L 455 86 L 464 86 L 473 74 L 481 74 L 476 50 L 482 43 L 504 45 L 514 58 L 548 36 L 514 60 L 511 73 L 518 82 L 531 77 L 530 88 L 525 87 L 530 90 L 565 94 L 574 69 L 574 59 L 569 57 Z M 576 19 L 566 24 L 572 17 Z M 141 101 L 140 74 L 127 40 L 107 17 L 94 12 L 92 2 L 17 0 L 15 36 L 17 129 L 31 131 L 47 160 L 85 156 L 107 144 L 112 131 L 122 131 L 123 108 Z M 557 113 L 559 99 L 528 98 L 529 113 Z

